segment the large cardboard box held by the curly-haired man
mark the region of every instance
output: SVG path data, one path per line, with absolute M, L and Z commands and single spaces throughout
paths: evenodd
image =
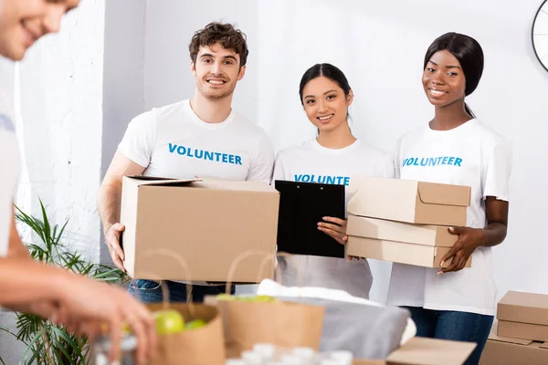
M 262 255 L 242 259 L 232 281 L 272 278 L 278 209 L 267 183 L 124 177 L 124 266 L 136 278 L 223 282 L 242 253 L 254 252 Z

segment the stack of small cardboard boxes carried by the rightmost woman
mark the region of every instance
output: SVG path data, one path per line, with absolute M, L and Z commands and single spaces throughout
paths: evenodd
M 425 267 L 440 266 L 470 204 L 469 186 L 399 179 L 353 177 L 350 194 L 347 255 Z

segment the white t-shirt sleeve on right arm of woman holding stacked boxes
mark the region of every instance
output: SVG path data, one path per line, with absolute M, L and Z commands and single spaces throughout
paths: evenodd
M 483 199 L 494 196 L 508 202 L 512 151 L 510 141 L 496 144 L 484 161 Z

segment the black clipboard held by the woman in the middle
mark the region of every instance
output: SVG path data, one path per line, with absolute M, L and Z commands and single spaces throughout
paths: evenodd
M 344 185 L 276 180 L 278 250 L 293 255 L 344 257 L 344 245 L 318 229 L 324 216 L 345 218 Z

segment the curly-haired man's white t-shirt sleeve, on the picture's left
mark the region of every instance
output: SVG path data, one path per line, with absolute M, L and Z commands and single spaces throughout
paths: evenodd
M 132 162 L 146 168 L 151 163 L 156 137 L 156 117 L 153 110 L 133 118 L 118 149 Z

